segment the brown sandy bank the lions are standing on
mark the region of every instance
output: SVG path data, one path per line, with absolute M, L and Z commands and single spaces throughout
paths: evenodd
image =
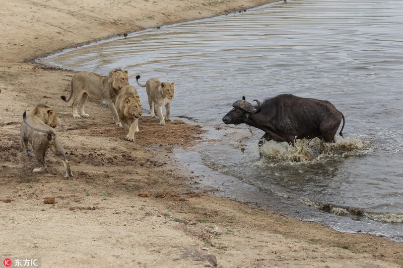
M 246 10 L 270 0 L 5 0 L 0 5 L 0 266 L 40 258 L 42 267 L 401 267 L 403 244 L 334 231 L 192 189 L 178 163 L 204 130 L 140 118 L 124 141 L 105 105 L 74 119 L 74 72 L 32 60 L 62 48 L 164 24 Z M 48 171 L 20 140 L 22 113 L 54 108 L 74 177 L 48 151 Z M 173 101 L 172 105 L 180 105 Z M 174 116 L 174 115 L 173 115 Z M 54 204 L 45 204 L 54 197 Z

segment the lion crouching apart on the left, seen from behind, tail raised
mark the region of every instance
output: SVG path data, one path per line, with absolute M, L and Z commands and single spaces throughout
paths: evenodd
M 63 163 L 65 169 L 64 177 L 72 177 L 69 161 L 66 159 L 64 148 L 54 130 L 59 124 L 56 113 L 48 106 L 40 104 L 31 111 L 25 111 L 21 124 L 21 139 L 24 150 L 30 157 L 35 157 L 41 167 L 35 168 L 32 172 L 40 172 L 47 169 L 45 154 L 47 149 Z M 32 149 L 28 148 L 28 142 Z

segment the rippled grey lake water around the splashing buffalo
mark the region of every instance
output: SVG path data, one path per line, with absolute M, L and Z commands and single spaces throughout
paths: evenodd
M 130 84 L 175 81 L 171 116 L 210 131 L 178 161 L 197 185 L 250 206 L 346 232 L 403 240 L 403 1 L 295 0 L 69 49 L 38 62 Z M 148 114 L 145 88 L 137 87 Z M 346 117 L 334 144 L 267 142 L 222 117 L 290 93 L 328 100 Z M 141 128 L 141 121 L 139 123 Z

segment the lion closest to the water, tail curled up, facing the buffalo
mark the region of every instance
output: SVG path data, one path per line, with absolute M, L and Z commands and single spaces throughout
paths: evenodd
M 146 87 L 151 117 L 155 117 L 155 111 L 157 111 L 158 118 L 160 119 L 159 125 L 165 125 L 165 121 L 171 121 L 169 114 L 171 112 L 171 100 L 174 97 L 175 82 L 160 82 L 157 78 L 150 78 L 146 84 L 141 84 L 139 79 L 140 75 L 137 75 L 137 83 L 142 87 Z M 163 105 L 165 105 L 165 120 L 162 114 Z

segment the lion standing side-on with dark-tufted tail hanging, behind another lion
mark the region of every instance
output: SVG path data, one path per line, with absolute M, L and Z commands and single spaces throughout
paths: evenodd
M 106 76 L 82 71 L 76 73 L 72 78 L 72 92 L 69 100 L 66 100 L 65 96 L 60 97 L 66 103 L 73 98 L 72 111 L 74 118 L 90 117 L 84 111 L 87 96 L 98 101 L 105 100 L 106 105 L 112 112 L 113 121 L 116 125 L 119 125 L 115 100 L 121 88 L 128 84 L 128 72 L 120 69 L 113 70 Z M 81 116 L 77 113 L 77 108 L 80 109 Z

